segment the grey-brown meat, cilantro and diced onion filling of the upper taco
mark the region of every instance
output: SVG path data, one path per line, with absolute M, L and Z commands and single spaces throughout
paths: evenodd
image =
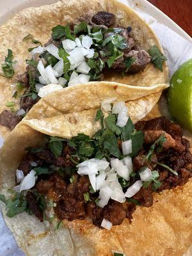
M 26 60 L 26 72 L 15 77 L 25 88 L 25 92 L 13 93 L 13 97 L 20 99 L 20 109 L 28 113 L 42 95 L 58 90 L 56 86 L 45 88 L 47 84 L 67 87 L 88 81 L 110 81 L 112 73 L 117 77 L 137 73 L 141 76 L 149 63 L 163 71 L 166 57 L 158 47 L 150 45 L 143 49 L 136 39 L 136 28 L 129 23 L 124 27 L 116 20 L 115 13 L 88 12 L 74 23 L 52 28 L 52 36 L 44 47 L 33 38 L 35 35 L 26 35 L 23 42 L 31 41 L 38 46 L 28 49 L 32 58 Z M 2 64 L 3 76 L 14 75 L 14 63 L 13 51 L 8 49 Z M 45 93 L 40 93 L 42 90 Z

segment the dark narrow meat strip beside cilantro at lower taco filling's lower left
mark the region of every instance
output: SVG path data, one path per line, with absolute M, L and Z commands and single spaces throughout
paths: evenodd
M 26 195 L 26 200 L 28 202 L 29 209 L 31 209 L 31 211 L 33 212 L 33 214 L 35 214 L 38 220 L 43 222 L 43 212 L 40 210 L 40 207 L 38 206 L 36 196 L 31 191 L 28 191 Z

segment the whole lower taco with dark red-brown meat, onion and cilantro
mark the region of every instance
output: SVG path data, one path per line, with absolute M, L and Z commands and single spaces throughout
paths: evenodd
M 191 244 L 190 142 L 153 112 L 139 121 L 152 95 L 136 99 L 138 87 L 125 97 L 122 86 L 84 93 L 88 86 L 41 99 L 4 143 L 8 227 L 27 255 L 183 255 Z

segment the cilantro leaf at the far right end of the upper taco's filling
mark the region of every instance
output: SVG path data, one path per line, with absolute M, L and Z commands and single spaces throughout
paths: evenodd
M 152 46 L 148 52 L 152 57 L 152 63 L 154 66 L 163 71 L 163 61 L 167 60 L 166 56 L 164 56 L 163 53 L 159 51 L 156 45 Z

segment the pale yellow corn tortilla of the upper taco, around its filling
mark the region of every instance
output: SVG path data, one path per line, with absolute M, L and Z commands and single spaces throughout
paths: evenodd
M 22 42 L 22 39 L 31 34 L 35 39 L 45 44 L 50 36 L 51 29 L 58 24 L 66 25 L 74 22 L 81 15 L 89 11 L 97 13 L 100 10 L 113 12 L 117 17 L 117 24 L 131 26 L 134 38 L 143 49 L 148 51 L 153 45 L 157 45 L 163 52 L 159 40 L 148 24 L 131 8 L 115 0 L 63 0 L 55 4 L 45 5 L 38 8 L 28 8 L 17 13 L 0 28 L 0 62 L 4 61 L 7 49 L 12 49 L 15 65 L 15 76 L 22 74 L 26 69 L 26 60 L 31 58 L 28 48 L 35 47 L 31 40 Z M 14 76 L 14 77 L 15 77 Z M 0 113 L 5 109 L 6 102 L 14 101 L 15 109 L 19 108 L 19 99 L 13 99 L 15 92 L 15 78 L 6 79 L 0 76 Z M 131 84 L 134 86 L 153 86 L 155 84 L 167 83 L 168 67 L 163 63 L 163 72 L 150 63 L 143 72 L 125 76 L 111 72 L 104 77 L 106 81 L 115 83 Z M 100 82 L 102 83 L 102 82 Z M 159 96 L 157 96 L 158 98 Z M 0 134 L 6 138 L 10 130 L 0 125 Z

